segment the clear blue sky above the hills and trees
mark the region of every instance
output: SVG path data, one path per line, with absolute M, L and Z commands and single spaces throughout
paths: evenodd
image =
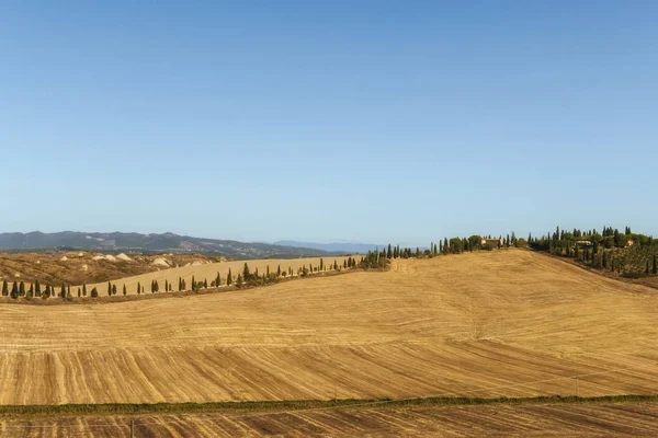
M 654 0 L 2 1 L 0 232 L 658 234 L 657 23 Z

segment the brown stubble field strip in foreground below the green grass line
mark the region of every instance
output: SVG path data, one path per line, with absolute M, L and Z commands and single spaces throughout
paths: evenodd
M 2 436 L 45 437 L 650 437 L 658 403 L 364 406 L 325 411 L 82 416 L 0 422 Z

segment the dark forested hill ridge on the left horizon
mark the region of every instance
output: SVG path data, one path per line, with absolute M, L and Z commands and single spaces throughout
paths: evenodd
M 340 251 L 325 251 L 300 245 L 247 243 L 234 240 L 192 238 L 173 233 L 86 233 L 77 231 L 0 233 L 0 251 L 52 249 L 102 252 L 201 253 L 234 258 L 290 258 L 305 255 L 338 255 L 342 253 Z

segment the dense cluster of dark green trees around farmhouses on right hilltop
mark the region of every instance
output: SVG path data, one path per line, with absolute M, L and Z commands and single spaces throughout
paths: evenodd
M 530 246 L 563 257 L 574 257 L 598 269 L 610 269 L 623 276 L 656 275 L 658 266 L 658 241 L 651 235 L 624 232 L 612 227 L 570 231 L 556 227 L 541 238 L 529 238 Z

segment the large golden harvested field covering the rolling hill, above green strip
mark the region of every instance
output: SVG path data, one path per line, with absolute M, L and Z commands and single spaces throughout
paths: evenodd
M 0 404 L 658 389 L 656 290 L 520 250 L 0 321 Z

